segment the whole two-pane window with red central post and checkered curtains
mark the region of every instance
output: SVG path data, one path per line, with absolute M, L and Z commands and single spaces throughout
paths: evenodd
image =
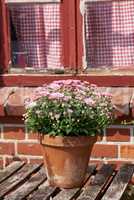
M 91 75 L 134 70 L 134 0 L 6 0 L 6 4 L 12 69 L 93 71 Z

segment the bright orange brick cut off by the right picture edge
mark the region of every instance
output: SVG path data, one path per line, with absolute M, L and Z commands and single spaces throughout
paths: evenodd
M 121 158 L 134 159 L 134 145 L 121 145 Z

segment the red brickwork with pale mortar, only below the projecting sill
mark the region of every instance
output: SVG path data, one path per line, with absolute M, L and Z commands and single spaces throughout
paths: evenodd
M 92 151 L 92 162 L 134 162 L 134 126 L 110 126 L 98 138 Z M 28 134 L 23 123 L 0 125 L 0 168 L 13 160 L 42 162 L 38 137 Z

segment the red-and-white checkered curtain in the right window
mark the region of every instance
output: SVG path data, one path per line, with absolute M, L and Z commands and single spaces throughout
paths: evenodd
M 134 67 L 134 1 L 90 1 L 85 9 L 88 66 Z

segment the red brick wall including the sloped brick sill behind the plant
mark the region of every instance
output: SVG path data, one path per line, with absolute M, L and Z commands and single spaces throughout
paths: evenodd
M 24 99 L 32 87 L 3 87 L 0 89 L 0 167 L 12 160 L 42 162 L 41 149 L 35 135 L 29 135 L 22 121 Z M 110 92 L 115 105 L 116 123 L 134 119 L 134 87 L 102 87 Z M 105 130 L 92 151 L 93 162 L 133 162 L 134 126 L 114 125 Z

